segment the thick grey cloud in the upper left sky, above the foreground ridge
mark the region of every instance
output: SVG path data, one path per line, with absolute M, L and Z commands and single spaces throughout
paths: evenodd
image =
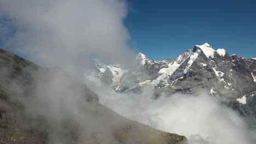
M 1 0 L 0 16 L 8 22 L 1 28 L 7 36 L 1 42 L 39 65 L 73 73 L 87 68 L 92 55 L 131 65 L 126 7 L 120 0 Z

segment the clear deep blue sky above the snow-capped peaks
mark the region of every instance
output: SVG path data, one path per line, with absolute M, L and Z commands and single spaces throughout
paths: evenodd
M 128 0 L 131 47 L 160 60 L 205 42 L 230 55 L 256 57 L 256 1 Z

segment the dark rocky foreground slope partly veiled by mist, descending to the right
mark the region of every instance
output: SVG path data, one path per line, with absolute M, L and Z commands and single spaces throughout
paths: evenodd
M 99 104 L 94 92 L 59 68 L 42 68 L 0 49 L 0 73 L 0 143 L 187 143 L 185 136 L 121 117 Z M 56 76 L 74 92 L 72 97 L 78 94 L 82 98 L 77 103 L 77 111 L 82 113 L 73 115 L 76 111 L 62 107 L 59 115 L 51 115 L 51 101 L 47 105 L 34 100 L 47 95 Z M 37 95 L 38 91 L 43 92 Z M 56 93 L 65 94 L 61 89 Z

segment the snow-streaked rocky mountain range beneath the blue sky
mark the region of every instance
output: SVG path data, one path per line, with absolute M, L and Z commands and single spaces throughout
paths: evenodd
M 119 66 L 119 71 L 123 72 L 119 73 L 118 79 L 112 69 L 100 73 L 95 69 L 94 74 L 101 80 L 106 80 L 102 75 L 110 75 L 105 83 L 117 92 L 140 93 L 143 87 L 153 86 L 154 98 L 160 97 L 162 92 L 170 95 L 177 92 L 191 94 L 203 88 L 211 95 L 223 98 L 223 103 L 256 125 L 256 58 L 230 56 L 226 50 L 214 50 L 210 44 L 205 43 L 195 45 L 176 59 L 153 61 L 139 53 L 136 62 L 135 70 Z M 100 65 L 115 67 L 103 63 Z M 111 77 L 118 81 L 112 82 Z

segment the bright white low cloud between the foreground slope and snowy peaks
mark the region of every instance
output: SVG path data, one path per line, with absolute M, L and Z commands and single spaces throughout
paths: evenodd
M 156 129 L 185 135 L 191 144 L 255 143 L 255 131 L 249 130 L 245 119 L 222 105 L 207 92 L 196 95 L 162 94 L 153 100 L 153 88 L 143 94 L 114 92 L 93 77 L 86 76 L 89 86 L 100 96 L 100 103 L 127 118 Z M 96 89 L 102 91 L 96 91 Z

